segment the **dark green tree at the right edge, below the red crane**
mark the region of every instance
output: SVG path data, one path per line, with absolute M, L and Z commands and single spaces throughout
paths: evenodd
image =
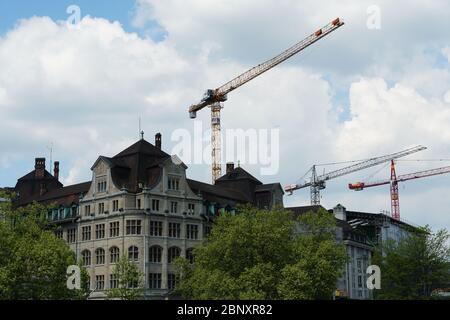
M 430 299 L 433 290 L 450 286 L 450 234 L 432 233 L 427 226 L 399 242 L 377 250 L 374 264 L 381 269 L 377 299 Z

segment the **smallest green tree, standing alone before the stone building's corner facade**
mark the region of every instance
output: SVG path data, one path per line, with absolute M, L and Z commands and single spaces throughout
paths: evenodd
M 138 300 L 144 295 L 143 275 L 136 263 L 123 255 L 114 266 L 112 276 L 118 281 L 118 287 L 108 290 L 109 299 Z

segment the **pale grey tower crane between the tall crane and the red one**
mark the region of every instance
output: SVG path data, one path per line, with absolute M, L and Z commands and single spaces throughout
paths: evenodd
M 370 158 L 364 161 L 361 161 L 359 163 L 353 164 L 351 166 L 341 168 L 332 172 L 325 173 L 323 175 L 317 175 L 316 165 L 314 165 L 309 171 L 311 171 L 311 179 L 307 182 L 304 182 L 302 184 L 292 184 L 284 188 L 284 190 L 289 194 L 292 195 L 292 193 L 295 190 L 303 189 L 306 187 L 310 187 L 311 189 L 311 205 L 319 205 L 320 204 L 320 190 L 325 189 L 326 187 L 326 181 L 335 179 L 341 176 L 345 176 L 347 174 L 360 171 L 363 169 L 367 169 L 385 162 L 389 162 L 392 159 L 397 159 L 401 157 L 405 157 L 407 155 L 425 150 L 426 147 L 423 146 L 416 146 L 412 147 L 400 152 L 384 155 L 381 157 L 376 158 Z M 309 172 L 308 171 L 308 172 Z

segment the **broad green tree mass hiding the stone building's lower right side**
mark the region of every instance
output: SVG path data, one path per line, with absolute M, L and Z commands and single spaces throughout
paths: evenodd
M 346 255 L 325 210 L 239 208 L 217 218 L 195 264 L 177 261 L 176 292 L 189 299 L 330 299 Z M 311 288 L 313 287 L 313 288 Z

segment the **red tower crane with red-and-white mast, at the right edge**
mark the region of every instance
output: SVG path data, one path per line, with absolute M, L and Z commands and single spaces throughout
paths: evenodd
M 431 170 L 425 170 L 425 171 L 419 171 L 419 172 L 413 172 L 408 174 L 403 174 L 400 176 L 397 176 L 397 173 L 395 172 L 395 161 L 391 160 L 391 178 L 382 180 L 382 181 L 375 181 L 375 182 L 357 182 L 357 183 L 350 183 L 348 185 L 350 190 L 355 191 L 362 191 L 366 188 L 371 187 L 378 187 L 383 186 L 386 184 L 390 185 L 391 189 L 391 216 L 392 218 L 396 220 L 400 220 L 400 200 L 398 197 L 398 183 L 413 179 L 420 179 L 425 177 L 431 177 L 436 176 L 440 174 L 450 173 L 450 166 L 448 167 L 442 167 L 442 168 L 436 168 Z

